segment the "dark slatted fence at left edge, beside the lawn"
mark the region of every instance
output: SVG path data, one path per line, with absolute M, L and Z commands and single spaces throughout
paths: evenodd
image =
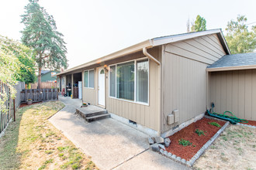
M 10 88 L 0 80 L 0 134 L 5 130 L 12 118 L 12 97 Z

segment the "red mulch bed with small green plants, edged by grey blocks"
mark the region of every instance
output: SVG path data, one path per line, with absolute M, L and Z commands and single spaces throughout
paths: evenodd
M 201 120 L 190 124 L 188 127 L 170 136 L 171 145 L 166 150 L 171 152 L 171 154 L 189 161 L 220 130 L 221 127 L 216 127 L 209 124 L 209 122 L 216 122 L 221 127 L 226 123 L 225 121 L 203 117 Z

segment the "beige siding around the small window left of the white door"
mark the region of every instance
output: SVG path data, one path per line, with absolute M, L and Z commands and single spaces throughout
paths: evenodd
M 94 88 L 87 88 L 85 87 L 85 70 L 82 71 L 82 83 L 83 83 L 83 101 L 88 102 L 90 104 L 97 104 L 96 102 L 96 95 L 97 95 L 97 91 L 96 91 L 96 87 L 98 87 L 97 84 L 97 74 L 96 74 L 96 69 L 94 70 Z

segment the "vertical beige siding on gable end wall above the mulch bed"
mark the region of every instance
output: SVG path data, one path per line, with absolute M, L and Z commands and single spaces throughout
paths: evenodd
M 206 111 L 206 64 L 164 53 L 163 131 Z M 167 115 L 179 110 L 178 123 L 168 125 Z

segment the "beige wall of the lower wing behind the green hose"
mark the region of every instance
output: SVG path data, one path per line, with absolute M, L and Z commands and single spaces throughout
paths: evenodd
M 256 70 L 210 74 L 210 103 L 214 112 L 231 111 L 236 117 L 256 121 Z

